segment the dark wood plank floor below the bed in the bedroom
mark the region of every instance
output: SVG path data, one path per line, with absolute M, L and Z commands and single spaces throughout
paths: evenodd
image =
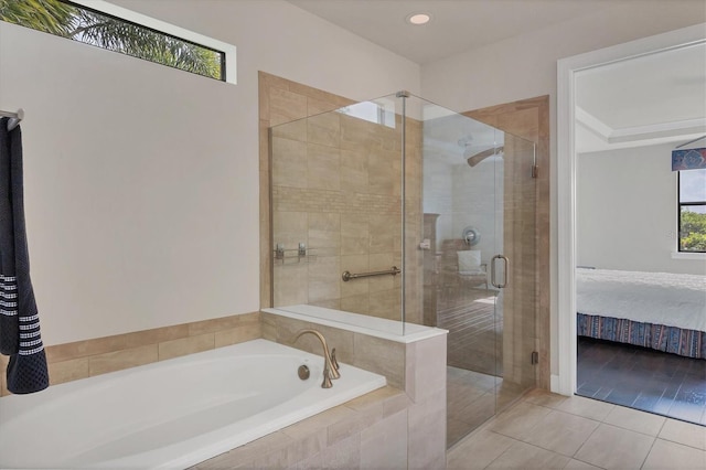
M 577 395 L 706 426 L 706 361 L 578 338 Z

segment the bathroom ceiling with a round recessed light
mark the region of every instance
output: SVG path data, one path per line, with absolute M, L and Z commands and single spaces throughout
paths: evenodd
M 418 64 L 595 14 L 632 0 L 289 0 Z M 431 21 L 416 26 L 411 13 Z

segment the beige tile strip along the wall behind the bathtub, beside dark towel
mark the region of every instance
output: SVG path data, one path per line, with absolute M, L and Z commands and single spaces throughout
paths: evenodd
M 260 313 L 243 313 L 46 348 L 51 385 L 261 338 Z M 0 355 L 0 396 L 8 357 Z

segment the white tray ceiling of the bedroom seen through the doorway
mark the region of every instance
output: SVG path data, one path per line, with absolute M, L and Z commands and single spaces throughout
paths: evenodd
M 706 133 L 706 43 L 577 73 L 579 152 L 686 141 Z

